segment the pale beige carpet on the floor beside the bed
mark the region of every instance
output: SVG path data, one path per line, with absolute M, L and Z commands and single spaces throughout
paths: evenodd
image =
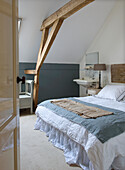
M 65 162 L 63 151 L 48 142 L 44 132 L 33 130 L 36 115 L 20 117 L 21 170 L 80 170 Z

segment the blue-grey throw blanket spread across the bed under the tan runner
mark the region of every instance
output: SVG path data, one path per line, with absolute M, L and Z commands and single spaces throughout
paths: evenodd
M 83 103 L 87 106 L 97 107 L 109 112 L 113 112 L 113 115 L 97 117 L 96 119 L 85 119 L 76 113 L 70 112 L 62 107 L 59 107 L 51 103 L 51 100 L 44 101 L 39 106 L 44 106 L 61 117 L 65 117 L 68 120 L 84 126 L 90 133 L 95 135 L 102 143 L 106 142 L 112 137 L 115 137 L 125 131 L 125 112 L 120 110 L 111 109 L 96 104 L 80 101 L 75 98 L 68 98 L 79 103 Z

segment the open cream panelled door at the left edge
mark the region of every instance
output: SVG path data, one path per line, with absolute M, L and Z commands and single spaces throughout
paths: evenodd
M 0 170 L 19 170 L 17 1 L 0 0 Z

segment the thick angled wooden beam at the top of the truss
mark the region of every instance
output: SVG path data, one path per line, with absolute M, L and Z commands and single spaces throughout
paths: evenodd
M 66 19 L 93 1 L 95 0 L 71 0 L 69 1 L 67 4 L 65 4 L 63 7 L 61 7 L 59 10 L 54 12 L 52 15 L 50 15 L 47 19 L 43 21 L 42 26 L 41 26 L 41 31 L 44 28 L 51 27 L 52 24 L 57 19 L 60 19 L 60 18 Z

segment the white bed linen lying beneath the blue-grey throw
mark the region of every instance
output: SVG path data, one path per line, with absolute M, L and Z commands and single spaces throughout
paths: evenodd
M 125 112 L 125 103 L 122 102 L 99 99 L 93 96 L 81 97 L 78 99 Z M 88 159 L 91 161 L 90 164 L 92 163 L 91 169 L 109 170 L 111 168 L 111 165 L 115 169 L 125 169 L 125 133 L 111 138 L 110 140 L 102 144 L 83 126 L 80 126 L 65 118 L 62 118 L 43 106 L 37 107 L 36 115 L 38 116 L 38 119 L 35 125 L 35 129 L 40 129 L 39 121 L 42 120 L 46 122 L 48 126 L 51 125 L 55 129 L 58 129 L 60 133 L 65 134 L 73 142 L 76 142 L 77 144 L 81 145 L 87 153 Z M 45 131 L 44 128 L 41 130 Z

